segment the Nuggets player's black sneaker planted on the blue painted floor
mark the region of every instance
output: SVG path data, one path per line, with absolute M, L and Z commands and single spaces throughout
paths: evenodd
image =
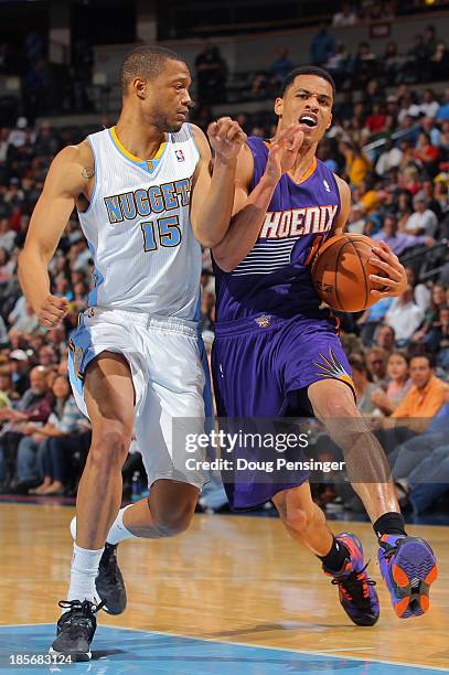
M 92 657 L 90 642 L 93 641 L 97 620 L 95 614 L 103 603 L 95 604 L 89 600 L 61 600 L 62 609 L 68 611 L 61 614 L 57 622 L 56 640 L 50 647 L 51 654 L 64 654 L 72 661 L 89 661 Z

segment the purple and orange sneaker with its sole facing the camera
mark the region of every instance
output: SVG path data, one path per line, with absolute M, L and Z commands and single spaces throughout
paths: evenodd
M 429 609 L 429 588 L 438 577 L 430 545 L 419 537 L 383 535 L 378 562 L 396 617 L 419 617 Z

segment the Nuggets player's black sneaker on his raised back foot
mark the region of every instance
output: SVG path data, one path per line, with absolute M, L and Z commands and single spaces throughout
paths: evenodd
M 127 602 L 125 581 L 117 562 L 117 546 L 106 543 L 95 580 L 103 609 L 108 614 L 121 614 Z

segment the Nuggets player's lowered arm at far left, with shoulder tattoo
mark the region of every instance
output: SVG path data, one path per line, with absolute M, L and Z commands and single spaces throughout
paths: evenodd
M 83 143 L 82 143 L 83 146 Z M 50 292 L 49 262 L 75 206 L 93 175 L 94 159 L 82 146 L 64 148 L 53 160 L 19 256 L 19 280 L 41 325 L 57 325 L 68 309 L 66 298 Z

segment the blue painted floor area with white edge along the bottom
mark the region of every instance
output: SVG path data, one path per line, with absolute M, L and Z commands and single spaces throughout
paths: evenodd
M 255 646 L 201 640 L 162 632 L 99 626 L 93 643 L 93 660 L 65 665 L 11 665 L 11 655 L 45 655 L 55 634 L 53 624 L 0 625 L 0 673 L 95 673 L 96 675 L 282 675 L 282 673 L 340 673 L 344 675 L 406 675 L 447 672 L 320 652 Z

